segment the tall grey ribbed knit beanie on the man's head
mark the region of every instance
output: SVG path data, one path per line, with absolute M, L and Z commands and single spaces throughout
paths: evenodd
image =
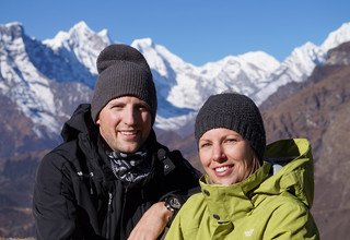
M 121 44 L 106 47 L 97 58 L 98 79 L 91 101 L 91 117 L 96 122 L 102 108 L 112 99 L 135 96 L 145 101 L 156 115 L 156 92 L 151 69 L 137 49 Z

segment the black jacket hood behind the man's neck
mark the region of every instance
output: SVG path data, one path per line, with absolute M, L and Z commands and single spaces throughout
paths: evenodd
M 71 118 L 63 124 L 61 136 L 65 142 L 74 140 L 79 133 L 90 135 L 97 132 L 98 129 L 91 118 L 90 104 L 81 104 L 78 106 Z

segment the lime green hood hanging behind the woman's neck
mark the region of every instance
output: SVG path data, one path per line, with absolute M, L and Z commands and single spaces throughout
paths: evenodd
M 314 164 L 311 145 L 305 139 L 281 140 L 267 146 L 264 159 L 272 165 L 273 175 L 254 192 L 290 192 L 311 208 L 314 199 Z

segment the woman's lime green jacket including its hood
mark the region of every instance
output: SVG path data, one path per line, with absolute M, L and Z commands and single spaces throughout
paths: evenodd
M 264 165 L 246 180 L 208 184 L 175 217 L 165 239 L 319 239 L 310 213 L 314 171 L 307 140 L 267 146 Z

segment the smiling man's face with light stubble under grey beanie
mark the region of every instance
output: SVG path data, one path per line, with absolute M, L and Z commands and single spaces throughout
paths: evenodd
M 150 107 L 137 97 L 112 99 L 100 112 L 100 133 L 113 151 L 130 154 L 144 143 L 152 129 Z

